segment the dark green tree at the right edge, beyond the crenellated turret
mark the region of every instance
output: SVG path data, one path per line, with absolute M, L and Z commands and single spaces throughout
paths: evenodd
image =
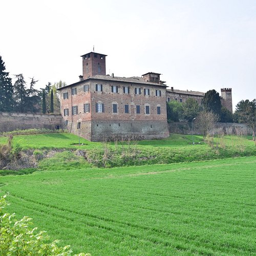
M 252 129 L 252 139 L 255 141 L 255 128 L 256 128 L 256 99 L 252 101 L 241 100 L 236 105 L 235 112 L 238 121 L 248 124 Z

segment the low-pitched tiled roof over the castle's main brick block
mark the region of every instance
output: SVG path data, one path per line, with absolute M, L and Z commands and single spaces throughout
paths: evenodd
M 95 76 L 91 76 L 87 79 L 69 84 L 68 86 L 65 87 L 61 87 L 57 90 L 60 90 L 62 88 L 66 88 L 66 87 L 70 87 L 70 86 L 75 86 L 78 85 L 80 83 L 83 83 L 84 81 L 88 81 L 90 79 L 95 79 L 95 80 L 105 80 L 105 81 L 117 81 L 117 82 L 129 82 L 129 83 L 139 83 L 139 84 L 147 84 L 149 86 L 161 86 L 161 87 L 167 87 L 165 84 L 159 84 L 159 83 L 155 83 L 155 82 L 146 82 L 142 77 L 117 77 L 117 76 L 110 76 L 110 75 L 95 75 Z

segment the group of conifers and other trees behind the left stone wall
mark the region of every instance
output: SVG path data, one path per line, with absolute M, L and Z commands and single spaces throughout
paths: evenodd
M 0 56 L 0 112 L 60 113 L 58 88 L 66 86 L 61 80 L 45 88 L 35 89 L 38 80 L 30 78 L 29 84 L 23 74 L 14 75 L 14 82 L 6 72 L 5 62 Z

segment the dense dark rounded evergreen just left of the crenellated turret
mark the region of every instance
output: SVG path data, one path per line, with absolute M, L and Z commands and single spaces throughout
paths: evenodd
M 202 105 L 205 111 L 221 115 L 221 97 L 215 90 L 210 90 L 204 94 Z

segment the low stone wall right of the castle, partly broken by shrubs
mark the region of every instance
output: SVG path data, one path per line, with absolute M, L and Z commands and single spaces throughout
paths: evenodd
M 170 122 L 168 123 L 169 133 L 178 134 L 192 134 L 191 122 Z M 193 125 L 194 134 L 200 134 L 200 130 L 197 125 Z M 223 132 L 225 134 L 243 134 L 252 135 L 252 129 L 244 123 L 216 123 L 211 133 L 219 134 Z

